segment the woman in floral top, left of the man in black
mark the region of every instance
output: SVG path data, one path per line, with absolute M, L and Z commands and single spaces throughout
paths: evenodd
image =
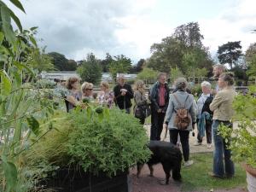
M 99 93 L 98 102 L 111 108 L 113 105 L 113 92 L 109 91 L 109 84 L 106 81 L 101 82 L 101 91 Z

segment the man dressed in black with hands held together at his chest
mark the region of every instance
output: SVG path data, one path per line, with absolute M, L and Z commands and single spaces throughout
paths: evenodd
M 118 84 L 113 88 L 114 102 L 119 109 L 125 109 L 125 113 L 131 113 L 131 99 L 133 91 L 130 84 L 125 84 L 125 75 L 119 74 Z

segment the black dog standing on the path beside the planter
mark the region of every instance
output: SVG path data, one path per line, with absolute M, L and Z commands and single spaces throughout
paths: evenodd
M 148 148 L 152 151 L 151 157 L 148 160 L 148 168 L 150 170 L 150 176 L 153 177 L 153 165 L 161 163 L 166 173 L 166 184 L 169 183 L 170 172 L 172 170 L 172 178 L 176 181 L 181 180 L 180 170 L 182 153 L 172 143 L 150 141 Z M 137 163 L 137 177 L 139 176 L 143 164 Z

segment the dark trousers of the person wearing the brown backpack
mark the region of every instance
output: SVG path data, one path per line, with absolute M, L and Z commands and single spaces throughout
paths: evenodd
M 177 144 L 177 135 L 182 143 L 183 158 L 187 161 L 189 160 L 189 131 L 170 130 L 170 143 Z

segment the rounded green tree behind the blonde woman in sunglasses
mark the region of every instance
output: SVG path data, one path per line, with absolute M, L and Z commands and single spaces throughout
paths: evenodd
M 92 84 L 99 84 L 102 79 L 102 68 L 100 61 L 92 53 L 87 55 L 85 61 L 77 68 L 81 79 Z

